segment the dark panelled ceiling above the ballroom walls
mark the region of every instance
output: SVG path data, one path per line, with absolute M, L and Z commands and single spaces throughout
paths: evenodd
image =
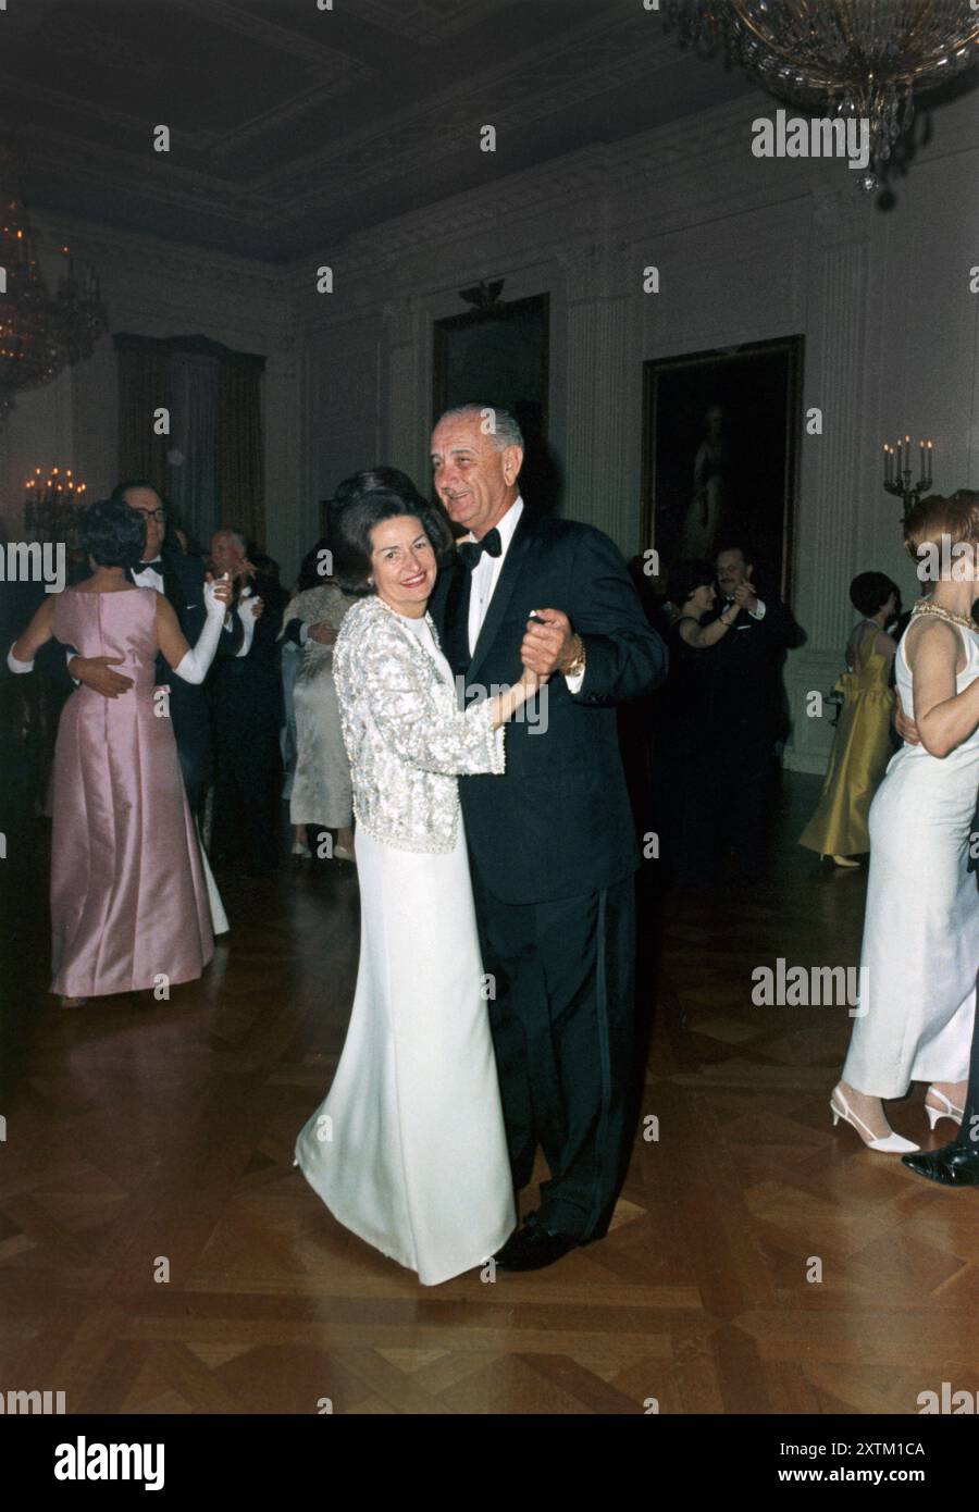
M 32 206 L 269 262 L 746 88 L 681 54 L 637 0 L 0 12 L 0 124 L 24 147 Z

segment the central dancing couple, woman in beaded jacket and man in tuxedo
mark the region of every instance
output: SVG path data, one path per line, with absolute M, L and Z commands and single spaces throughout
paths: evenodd
M 626 1161 L 639 850 L 616 705 L 666 649 L 611 541 L 525 508 L 522 460 L 510 414 L 449 411 L 433 467 L 458 547 L 392 472 L 347 485 L 334 526 L 360 596 L 334 652 L 360 968 L 297 1163 L 427 1285 L 599 1238 Z M 539 1146 L 551 1179 L 517 1228 Z

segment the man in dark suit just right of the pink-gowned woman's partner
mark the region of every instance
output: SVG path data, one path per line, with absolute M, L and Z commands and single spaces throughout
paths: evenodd
M 215 862 L 241 863 L 250 877 L 271 874 L 280 860 L 283 723 L 280 641 L 287 596 L 271 572 L 260 572 L 241 531 L 215 531 L 210 559 L 230 573 L 244 617 L 244 653 L 215 664 L 209 696 L 215 729 Z M 250 623 L 250 606 L 254 614 Z

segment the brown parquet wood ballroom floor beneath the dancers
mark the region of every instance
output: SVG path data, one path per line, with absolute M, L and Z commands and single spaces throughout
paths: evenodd
M 817 788 L 785 780 L 770 883 L 666 904 L 613 1232 L 434 1290 L 292 1167 L 343 1040 L 353 869 L 225 885 L 204 981 L 71 1013 L 44 995 L 39 847 L 3 930 L 0 1388 L 110 1414 L 873 1414 L 974 1390 L 974 1194 L 832 1131 L 846 1007 L 751 1001 L 779 956 L 858 959 L 862 874 L 794 845 Z M 894 1123 L 944 1143 L 922 1098 Z

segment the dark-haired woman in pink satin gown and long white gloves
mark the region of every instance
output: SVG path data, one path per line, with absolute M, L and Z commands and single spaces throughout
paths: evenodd
M 123 499 L 92 505 L 82 526 L 92 576 L 45 599 L 8 655 L 14 673 L 29 673 L 56 638 L 80 682 L 61 715 L 53 779 L 51 992 L 65 1007 L 192 981 L 213 956 L 216 892 L 157 656 L 200 688 L 232 588 L 201 575 L 191 647 L 169 599 L 133 581 L 147 534 L 145 510 Z

